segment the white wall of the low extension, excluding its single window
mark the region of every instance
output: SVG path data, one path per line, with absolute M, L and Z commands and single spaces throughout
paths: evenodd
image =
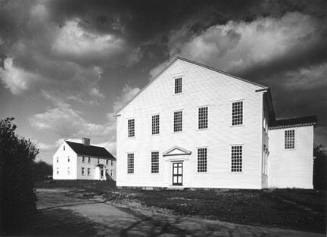
M 285 130 L 295 131 L 295 148 L 285 149 Z M 269 130 L 270 188 L 313 188 L 314 127 Z

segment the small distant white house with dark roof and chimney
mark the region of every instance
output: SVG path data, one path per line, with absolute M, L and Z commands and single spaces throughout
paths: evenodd
M 64 141 L 53 155 L 53 179 L 116 180 L 116 158 L 104 147 Z

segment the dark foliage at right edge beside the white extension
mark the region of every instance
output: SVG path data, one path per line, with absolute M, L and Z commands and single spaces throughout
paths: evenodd
M 323 150 L 322 145 L 314 148 L 315 156 L 313 163 L 313 187 L 318 190 L 327 189 L 327 154 Z

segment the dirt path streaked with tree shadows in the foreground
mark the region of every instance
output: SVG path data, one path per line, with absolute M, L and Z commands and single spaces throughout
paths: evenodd
M 83 224 L 81 220 L 89 220 L 96 236 L 324 236 L 183 217 L 137 203 L 105 202 L 101 197 L 83 198 L 78 190 L 38 190 L 37 195 L 40 210 L 70 211 L 73 215 L 68 220 L 72 224 L 77 216 L 82 218 L 78 219 L 79 225 Z

